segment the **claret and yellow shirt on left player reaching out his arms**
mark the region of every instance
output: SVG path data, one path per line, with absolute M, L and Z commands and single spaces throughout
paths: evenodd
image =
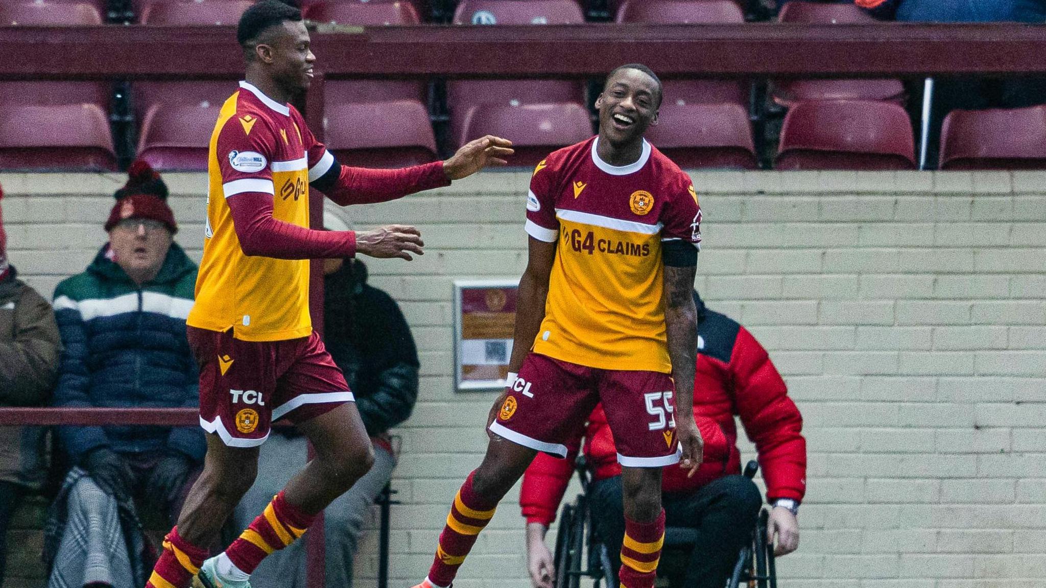
M 334 157 L 292 106 L 240 83 L 219 114 L 207 164 L 207 226 L 196 304 L 187 323 L 233 330 L 245 341 L 279 341 L 312 333 L 309 261 L 244 254 L 226 199 L 270 194 L 277 221 L 309 226 L 309 181 Z

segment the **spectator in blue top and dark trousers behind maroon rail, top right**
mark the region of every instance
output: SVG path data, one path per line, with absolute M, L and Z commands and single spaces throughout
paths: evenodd
M 903 22 L 1046 22 L 1044 0 L 855 0 L 883 20 Z M 923 84 L 909 87 L 914 120 L 922 117 Z M 1046 77 L 939 77 L 933 90 L 927 161 L 937 161 L 940 128 L 953 110 L 1027 108 L 1046 103 Z

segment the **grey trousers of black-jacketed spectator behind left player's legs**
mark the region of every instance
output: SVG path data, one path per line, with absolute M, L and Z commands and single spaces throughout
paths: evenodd
M 285 484 L 305 466 L 305 437 L 287 438 L 273 433 L 262 446 L 258 475 L 254 485 L 244 496 L 232 514 L 236 533 L 247 528 L 262 514 Z M 325 585 L 350 588 L 353 557 L 356 553 L 360 528 L 370 506 L 382 489 L 392 478 L 395 457 L 386 449 L 374 446 L 374 466 L 348 492 L 338 497 L 324 511 L 323 533 L 326 537 Z M 302 541 L 273 552 L 251 574 L 252 588 L 305 588 L 305 534 Z

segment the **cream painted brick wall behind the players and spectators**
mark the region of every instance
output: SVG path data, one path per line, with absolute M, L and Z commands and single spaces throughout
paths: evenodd
M 422 578 L 478 465 L 493 393 L 455 393 L 451 282 L 516 277 L 527 173 L 351 210 L 420 227 L 427 254 L 369 263 L 422 354 L 400 430 L 393 586 Z M 1046 587 L 1046 174 L 700 173 L 709 304 L 770 349 L 805 417 L 810 493 L 784 587 Z M 167 176 L 199 256 L 204 180 Z M 10 257 L 49 294 L 86 265 L 117 176 L 0 175 Z M 746 457 L 751 448 L 743 447 Z M 514 492 L 461 588 L 523 588 Z M 377 570 L 377 534 L 359 556 Z

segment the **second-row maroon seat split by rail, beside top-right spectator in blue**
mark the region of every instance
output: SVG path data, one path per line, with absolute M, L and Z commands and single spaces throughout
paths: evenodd
M 778 21 L 815 24 L 878 23 L 854 4 L 789 2 Z M 884 25 L 885 26 L 885 25 Z M 901 104 L 905 88 L 900 80 L 776 80 L 772 83 L 775 103 L 791 107 L 809 100 L 890 100 Z

